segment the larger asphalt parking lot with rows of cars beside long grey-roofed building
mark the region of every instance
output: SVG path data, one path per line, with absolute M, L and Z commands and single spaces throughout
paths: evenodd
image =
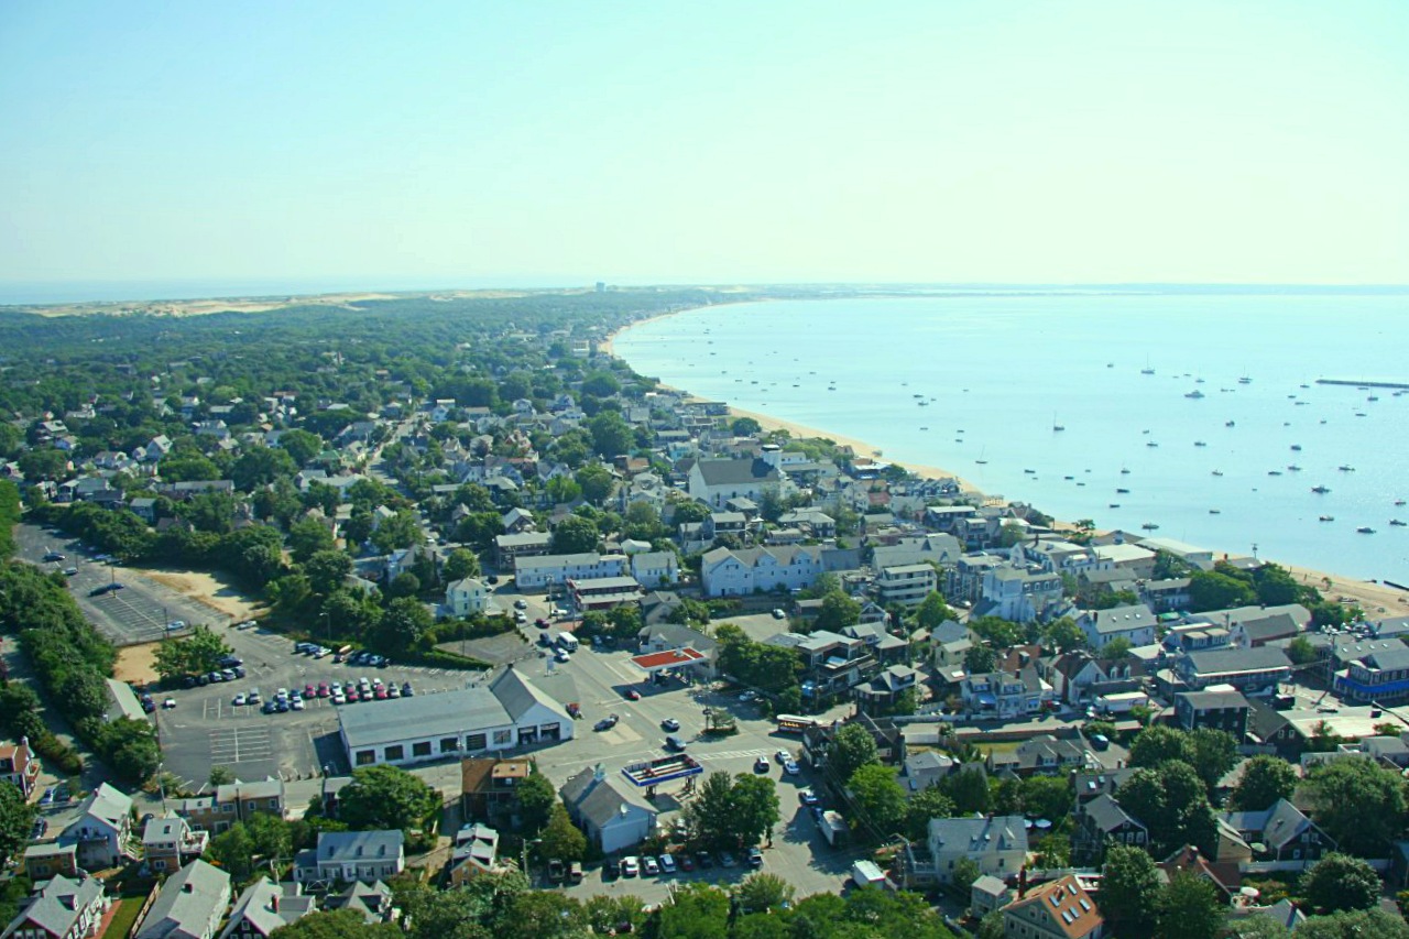
M 261 702 L 273 699 L 279 688 L 317 688 L 318 682 L 380 680 L 397 687 L 410 682 L 417 695 L 464 688 L 478 673 L 392 664 L 386 668 L 347 665 L 333 656 L 313 658 L 294 653 L 294 643 L 278 633 L 254 627 L 218 627 L 217 632 L 242 660 L 245 677 L 196 688 L 162 691 L 175 706 L 156 711 L 165 768 L 199 787 L 216 766 L 230 767 L 242 780 L 279 777 L 296 780 L 316 775 L 328 766 L 347 773 L 347 757 L 338 740 L 337 706 L 331 698 L 307 698 L 303 711 L 263 713 L 261 705 L 235 705 L 235 695 L 258 688 Z M 341 705 L 379 708 L 385 701 Z

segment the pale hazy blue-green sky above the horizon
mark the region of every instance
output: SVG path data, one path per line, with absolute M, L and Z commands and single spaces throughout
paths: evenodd
M 1402 0 L 4 0 L 0 302 L 1406 283 L 1406 102 Z

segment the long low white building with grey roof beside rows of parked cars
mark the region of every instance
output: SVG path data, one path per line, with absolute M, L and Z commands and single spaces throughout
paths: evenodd
M 354 767 L 410 766 L 573 735 L 568 711 L 511 665 L 488 687 L 340 708 L 338 723 Z

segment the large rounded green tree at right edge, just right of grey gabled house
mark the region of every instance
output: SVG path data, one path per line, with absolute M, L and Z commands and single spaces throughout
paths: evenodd
M 1308 780 L 1312 816 L 1347 854 L 1384 857 L 1403 830 L 1403 787 L 1396 771 L 1368 759 L 1323 763 Z

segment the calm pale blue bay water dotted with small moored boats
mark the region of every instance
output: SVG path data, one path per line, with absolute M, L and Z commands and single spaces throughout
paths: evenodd
M 1316 385 L 1409 383 L 1402 292 L 747 303 L 614 350 L 1061 519 L 1409 582 L 1409 392 Z

